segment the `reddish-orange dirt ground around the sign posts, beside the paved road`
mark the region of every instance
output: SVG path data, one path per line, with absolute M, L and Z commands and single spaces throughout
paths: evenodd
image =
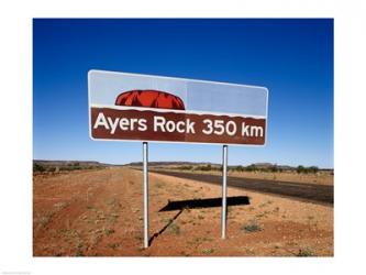
M 143 249 L 142 172 L 77 170 L 33 178 L 34 256 L 333 255 L 333 207 L 155 173 L 151 246 Z

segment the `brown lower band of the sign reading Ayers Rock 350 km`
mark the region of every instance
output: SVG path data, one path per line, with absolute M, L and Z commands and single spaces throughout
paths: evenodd
M 263 145 L 265 125 L 255 118 L 91 108 L 91 135 L 102 140 Z

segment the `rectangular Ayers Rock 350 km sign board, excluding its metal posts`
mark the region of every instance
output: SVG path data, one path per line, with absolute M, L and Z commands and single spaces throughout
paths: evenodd
M 93 140 L 264 145 L 264 87 L 90 70 Z

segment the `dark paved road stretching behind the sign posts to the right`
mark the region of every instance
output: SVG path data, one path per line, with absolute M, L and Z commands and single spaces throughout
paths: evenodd
M 185 172 L 152 170 L 168 176 L 200 180 L 210 184 L 222 184 L 222 177 L 217 175 L 192 174 Z M 317 184 L 299 184 L 288 182 L 275 182 L 265 179 L 252 179 L 242 177 L 228 177 L 228 185 L 247 190 L 274 194 L 291 197 L 317 204 L 333 205 L 333 186 Z

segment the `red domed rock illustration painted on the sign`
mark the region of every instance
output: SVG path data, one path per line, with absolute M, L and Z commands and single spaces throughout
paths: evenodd
M 115 105 L 173 110 L 186 109 L 184 101 L 179 97 L 160 90 L 124 91 L 117 97 Z

